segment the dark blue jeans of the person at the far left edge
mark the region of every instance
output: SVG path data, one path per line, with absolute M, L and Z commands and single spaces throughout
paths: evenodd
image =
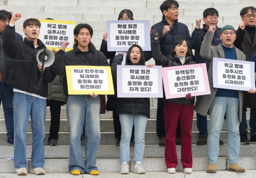
M 13 94 L 10 90 L 10 86 L 6 82 L 0 82 L 0 104 L 3 102 L 4 110 L 4 121 L 5 127 L 7 130 L 7 137 L 14 136 L 14 123 L 13 123 L 13 108 L 12 108 L 12 99 Z

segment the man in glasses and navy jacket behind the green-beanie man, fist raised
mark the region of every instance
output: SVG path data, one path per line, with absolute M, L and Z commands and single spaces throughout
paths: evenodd
M 192 32 L 192 42 L 191 47 L 195 50 L 195 58 L 196 63 L 206 63 L 207 71 L 209 69 L 209 62 L 202 57 L 200 57 L 200 49 L 202 45 L 202 41 L 204 39 L 204 36 L 206 35 L 207 31 L 209 30 L 210 26 L 215 26 L 216 30 L 213 35 L 212 44 L 213 46 L 218 46 L 222 41 L 220 39 L 220 28 L 218 28 L 218 17 L 219 13 L 214 8 L 208 8 L 204 10 L 203 12 L 203 21 L 204 25 L 201 29 L 201 21 L 202 19 L 196 20 L 196 27 L 194 31 Z M 199 141 L 197 141 L 196 145 L 206 145 L 207 144 L 207 137 L 208 137 L 208 131 L 207 131 L 207 116 L 206 115 L 200 115 L 199 113 L 196 113 L 196 121 L 197 121 L 197 129 L 199 131 Z M 220 141 L 220 145 L 223 145 L 223 141 Z

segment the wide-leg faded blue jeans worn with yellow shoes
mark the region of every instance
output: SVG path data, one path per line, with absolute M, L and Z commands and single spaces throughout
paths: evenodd
M 70 138 L 68 171 L 80 170 L 84 174 L 98 170 L 95 164 L 100 144 L 100 96 L 69 95 L 66 113 Z M 85 164 L 80 140 L 83 127 Z

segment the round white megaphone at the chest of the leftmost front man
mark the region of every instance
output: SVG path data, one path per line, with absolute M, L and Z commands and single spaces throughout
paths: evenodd
M 37 63 L 42 66 L 43 64 L 43 59 L 44 59 L 44 67 L 49 67 L 54 63 L 54 53 L 50 50 L 46 48 L 45 51 L 45 57 L 44 57 L 44 49 L 41 49 L 40 51 L 38 51 L 37 55 L 36 55 L 36 61 Z

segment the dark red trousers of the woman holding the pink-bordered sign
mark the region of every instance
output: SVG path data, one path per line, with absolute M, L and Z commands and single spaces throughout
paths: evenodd
M 182 105 L 171 102 L 164 103 L 165 151 L 164 157 L 167 168 L 178 165 L 176 152 L 176 128 L 180 118 L 181 133 L 181 163 L 183 168 L 192 168 L 192 122 L 194 105 Z

